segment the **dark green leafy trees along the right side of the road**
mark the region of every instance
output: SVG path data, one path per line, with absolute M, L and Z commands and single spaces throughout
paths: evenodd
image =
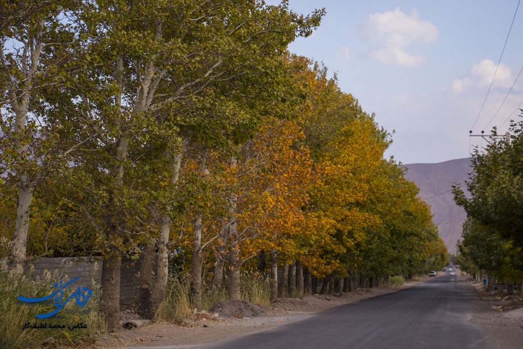
M 495 130 L 494 130 L 495 133 Z M 523 272 L 523 121 L 512 122 L 511 138 L 493 138 L 472 154 L 470 196 L 454 187 L 454 200 L 467 211 L 459 244 L 463 270 L 484 269 L 520 282 Z

